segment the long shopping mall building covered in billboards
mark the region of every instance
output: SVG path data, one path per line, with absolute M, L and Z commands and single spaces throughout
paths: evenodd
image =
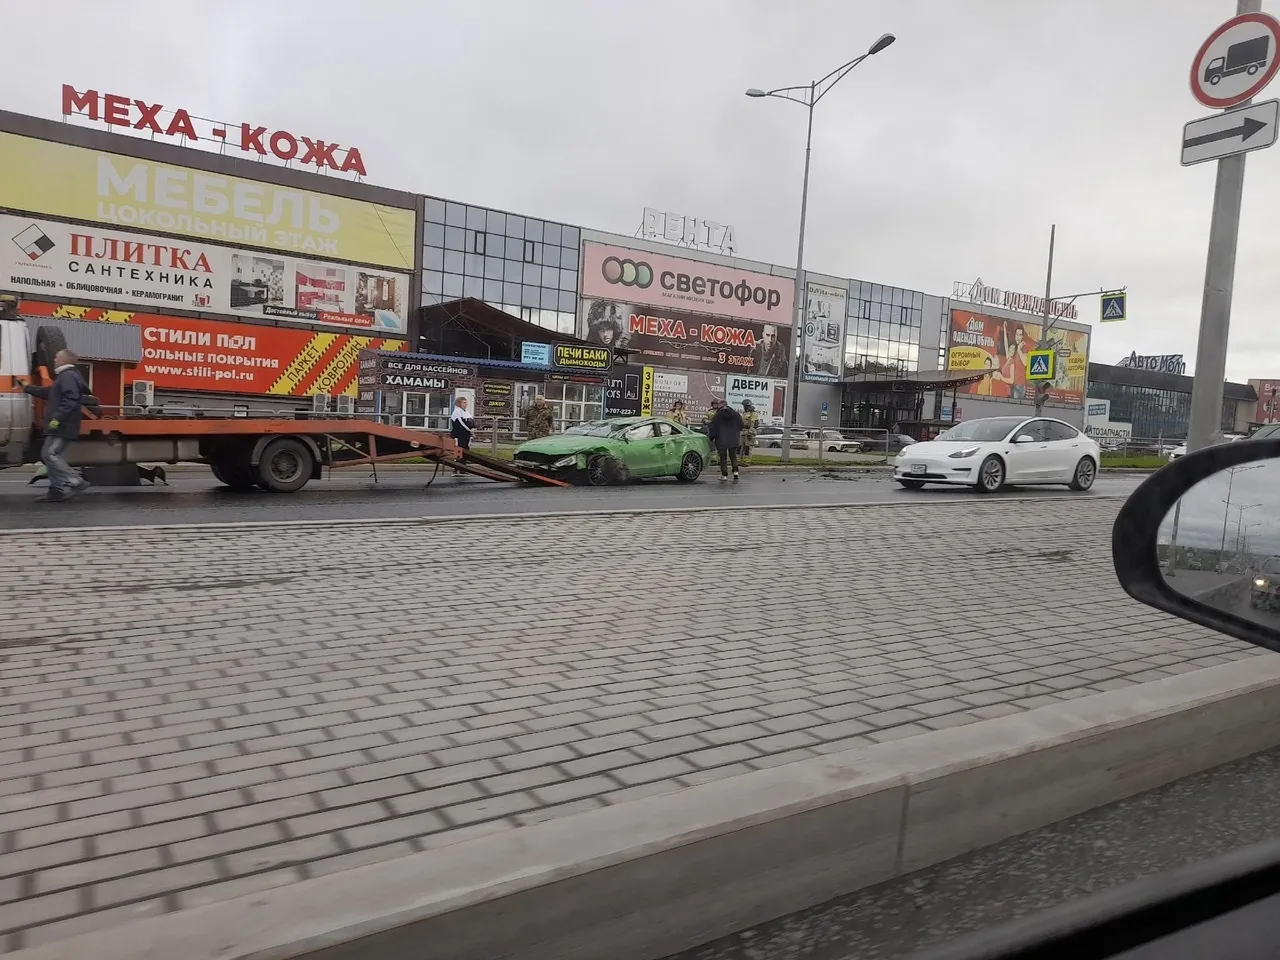
M 435 425 L 456 396 L 518 420 L 541 394 L 562 424 L 750 398 L 781 421 L 795 270 L 731 229 L 650 214 L 637 238 L 244 156 L 0 113 L 0 291 L 73 348 L 86 321 L 142 328 L 120 402 Z M 1043 303 L 951 293 L 809 273 L 797 420 L 922 436 L 1030 411 Z M 1047 413 L 1082 426 L 1089 333 L 1073 308 L 1048 337 Z

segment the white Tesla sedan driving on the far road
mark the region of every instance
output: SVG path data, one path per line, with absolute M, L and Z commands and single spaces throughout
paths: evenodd
M 1006 484 L 1088 490 L 1101 458 L 1093 439 L 1061 420 L 987 417 L 913 443 L 893 461 L 893 479 L 911 490 L 925 484 L 966 485 L 979 493 L 995 493 Z

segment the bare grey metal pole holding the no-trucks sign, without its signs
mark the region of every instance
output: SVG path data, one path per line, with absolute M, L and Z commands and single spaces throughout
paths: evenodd
M 1261 13 L 1262 0 L 1236 0 L 1236 15 Z M 1243 101 L 1249 104 L 1252 100 Z M 1244 196 L 1244 154 L 1217 161 L 1213 216 L 1208 228 L 1204 296 L 1201 300 L 1199 342 L 1196 346 L 1196 381 L 1192 385 L 1192 422 L 1187 452 L 1212 444 L 1222 430 L 1222 381 L 1226 379 L 1226 340 L 1235 284 L 1235 250 L 1240 234 Z

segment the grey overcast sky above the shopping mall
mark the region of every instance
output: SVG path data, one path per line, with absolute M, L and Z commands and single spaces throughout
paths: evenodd
M 1276 9 L 1271 9 L 1276 8 Z M 189 10 L 184 13 L 183 10 Z M 1270 0 L 1263 9 L 1280 13 Z M 0 102 L 60 84 L 361 148 L 374 183 L 631 233 L 648 206 L 795 262 L 804 83 L 897 42 L 818 106 L 806 265 L 950 294 L 1129 287 L 1093 360 L 1194 366 L 1215 164 L 1188 88 L 1233 0 L 90 0 L 5 4 Z M 49 44 L 41 42 L 49 38 Z M 56 55 L 52 55 L 56 52 Z M 1267 96 L 1280 93 L 1280 82 Z M 1228 374 L 1280 376 L 1280 150 L 1248 159 Z M 1096 320 L 1097 300 L 1082 302 Z

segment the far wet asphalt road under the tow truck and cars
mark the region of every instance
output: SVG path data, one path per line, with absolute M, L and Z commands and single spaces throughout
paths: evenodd
M 547 489 L 457 479 L 442 470 L 383 470 L 378 483 L 367 471 L 339 471 L 314 480 L 296 494 L 255 490 L 232 493 L 206 472 L 178 472 L 169 486 L 95 488 L 70 503 L 38 503 L 44 485 L 28 486 L 31 474 L 0 474 L 0 530 L 29 527 L 118 526 L 159 524 L 227 524 L 244 521 L 384 518 L 493 513 L 657 509 L 668 507 L 824 506 L 833 503 L 910 503 L 969 499 L 964 488 L 904 490 L 887 471 L 762 468 L 739 484 L 714 476 L 686 485 L 653 481 L 622 488 Z M 835 479 L 840 477 L 840 479 Z M 1128 495 L 1142 476 L 1102 476 L 1088 494 L 1064 486 L 1009 490 L 1009 497 Z

